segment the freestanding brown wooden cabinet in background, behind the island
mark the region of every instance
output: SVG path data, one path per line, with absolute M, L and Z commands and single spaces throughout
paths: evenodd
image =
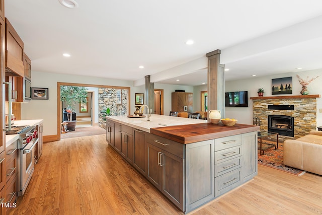
M 178 112 L 193 112 L 193 93 L 172 93 L 171 110 Z

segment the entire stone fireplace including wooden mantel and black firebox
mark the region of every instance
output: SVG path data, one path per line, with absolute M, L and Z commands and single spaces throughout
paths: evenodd
M 316 98 L 319 97 L 320 95 L 251 97 L 253 117 L 261 122 L 260 129 L 263 131 L 269 131 L 269 125 L 275 127 L 270 128 L 273 132 L 280 133 L 284 129 L 285 133 L 279 135 L 281 141 L 296 139 L 308 134 L 310 130 L 316 130 Z M 277 117 L 272 121 L 269 116 Z M 285 117 L 282 119 L 280 116 Z M 292 132 L 293 135 L 290 135 Z

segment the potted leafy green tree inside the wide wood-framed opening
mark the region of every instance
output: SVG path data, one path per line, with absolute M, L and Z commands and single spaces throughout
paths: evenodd
M 67 107 L 66 111 L 69 112 L 69 121 L 65 125 L 66 130 L 75 130 L 76 120 L 72 120 L 73 112 L 75 111 L 76 104 L 87 102 L 87 91 L 85 87 L 77 86 L 60 86 L 60 100 L 63 101 Z

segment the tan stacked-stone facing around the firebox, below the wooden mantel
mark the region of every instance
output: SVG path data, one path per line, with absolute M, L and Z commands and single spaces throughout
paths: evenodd
M 294 110 L 269 110 L 268 105 L 294 105 Z M 261 120 L 261 130 L 268 130 L 268 115 L 294 117 L 294 137 L 279 135 L 281 141 L 296 139 L 316 129 L 316 98 L 253 99 L 253 117 Z

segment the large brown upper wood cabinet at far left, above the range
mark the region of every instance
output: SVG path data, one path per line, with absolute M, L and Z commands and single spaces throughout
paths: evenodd
M 25 76 L 24 42 L 6 18 L 6 69 L 14 75 Z M 12 75 L 12 76 L 14 76 Z

